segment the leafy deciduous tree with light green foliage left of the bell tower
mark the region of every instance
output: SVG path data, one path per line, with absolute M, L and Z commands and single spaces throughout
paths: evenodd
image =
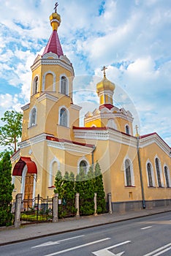
M 0 127 L 0 145 L 8 146 L 12 151 L 17 151 L 18 139 L 22 133 L 22 118 L 23 114 L 15 110 L 7 110 L 1 121 L 4 121 L 4 126 Z

